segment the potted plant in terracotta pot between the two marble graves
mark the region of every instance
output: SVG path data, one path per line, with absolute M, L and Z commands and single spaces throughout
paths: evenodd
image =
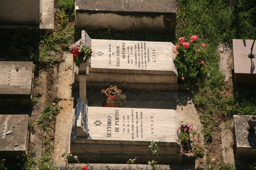
M 106 98 L 109 102 L 113 102 L 115 106 L 123 106 L 126 103 L 126 95 L 121 94 L 122 90 L 118 89 L 117 86 L 110 86 L 107 89 L 101 90 L 102 94 L 106 94 Z

